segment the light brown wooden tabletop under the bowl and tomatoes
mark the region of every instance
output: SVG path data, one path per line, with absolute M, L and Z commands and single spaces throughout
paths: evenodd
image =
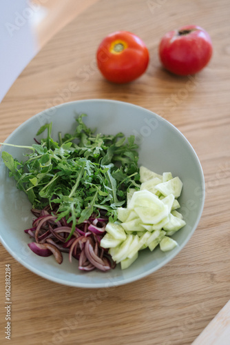
M 49 282 L 1 246 L 1 277 L 6 264 L 12 270 L 10 344 L 187 345 L 227 303 L 229 17 L 229 0 L 98 1 L 56 34 L 15 81 L 1 103 L 0 141 L 59 103 L 92 98 L 131 102 L 165 117 L 194 146 L 205 173 L 206 201 L 196 232 L 176 258 L 149 277 L 104 293 Z M 158 43 L 165 32 L 188 23 L 209 32 L 213 58 L 198 75 L 176 77 L 161 68 Z M 120 29 L 145 41 L 151 61 L 140 79 L 119 86 L 101 77 L 95 51 L 106 34 Z M 189 80 L 193 88 L 187 88 Z M 0 342 L 6 344 L 3 279 Z

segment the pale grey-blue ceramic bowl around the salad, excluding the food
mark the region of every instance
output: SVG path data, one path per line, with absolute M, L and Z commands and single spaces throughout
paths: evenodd
M 89 99 L 61 104 L 35 115 L 12 132 L 6 143 L 31 145 L 37 130 L 52 121 L 52 136 L 57 139 L 61 131 L 72 132 L 76 114 L 84 112 L 85 123 L 105 134 L 136 135 L 140 144 L 140 165 L 158 173 L 171 171 L 183 182 L 180 196 L 180 212 L 187 225 L 173 238 L 178 246 L 163 253 L 156 248 L 141 250 L 136 262 L 126 270 L 120 265 L 107 273 L 94 270 L 81 272 L 77 264 L 70 264 L 63 255 L 63 264 L 56 263 L 53 256 L 39 257 L 28 248 L 30 237 L 24 233 L 30 228 L 32 214 L 30 202 L 23 192 L 17 190 L 15 182 L 8 177 L 8 171 L 1 159 L 0 164 L 0 235 L 1 243 L 8 252 L 32 272 L 53 282 L 83 288 L 118 286 L 143 278 L 167 264 L 187 244 L 198 226 L 205 201 L 205 181 L 200 161 L 187 139 L 168 121 L 153 112 L 121 101 Z M 23 150 L 10 146 L 1 147 L 17 159 L 23 159 Z M 1 152 L 0 152 L 1 153 Z

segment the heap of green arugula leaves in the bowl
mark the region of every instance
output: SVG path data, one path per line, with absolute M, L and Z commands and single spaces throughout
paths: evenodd
M 59 133 L 59 142 L 51 137 L 52 123 L 42 126 L 37 135 L 45 130 L 48 135 L 41 144 L 18 146 L 32 150 L 24 162 L 8 152 L 1 155 L 32 207 L 56 204 L 58 219 L 65 217 L 72 233 L 77 224 L 100 210 L 109 221 L 116 221 L 116 209 L 126 203 L 127 190 L 140 186 L 134 135 L 96 134 L 83 122 L 85 116 L 76 119 L 74 135 Z

